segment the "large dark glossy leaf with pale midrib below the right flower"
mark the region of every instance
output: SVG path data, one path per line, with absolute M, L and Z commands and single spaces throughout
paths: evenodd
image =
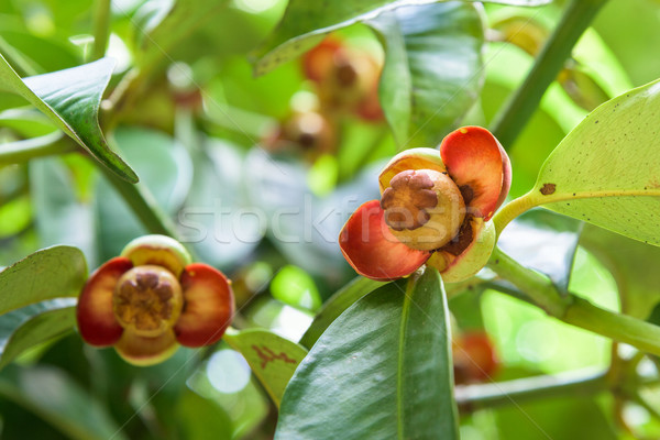
M 429 268 L 341 315 L 286 388 L 276 439 L 458 439 L 448 309 Z

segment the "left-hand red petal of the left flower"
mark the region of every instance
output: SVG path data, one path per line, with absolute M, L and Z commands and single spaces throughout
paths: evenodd
M 123 328 L 114 319 L 112 293 L 119 278 L 132 267 L 129 258 L 118 256 L 99 267 L 87 280 L 76 310 L 78 330 L 87 343 L 107 346 L 121 337 Z

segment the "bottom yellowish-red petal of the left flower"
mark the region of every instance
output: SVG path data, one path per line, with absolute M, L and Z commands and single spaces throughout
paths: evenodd
M 127 329 L 114 345 L 114 350 L 124 361 L 138 366 L 161 363 L 170 358 L 177 349 L 172 329 L 155 338 L 140 337 Z

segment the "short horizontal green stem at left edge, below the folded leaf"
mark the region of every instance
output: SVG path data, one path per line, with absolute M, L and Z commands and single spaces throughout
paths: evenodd
M 57 131 L 38 138 L 3 144 L 0 148 L 0 166 L 28 162 L 35 157 L 70 153 L 76 150 L 76 144 L 64 136 L 64 133 Z

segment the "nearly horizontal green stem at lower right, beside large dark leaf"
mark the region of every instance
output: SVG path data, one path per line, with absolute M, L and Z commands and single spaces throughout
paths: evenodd
M 559 396 L 591 396 L 608 387 L 606 373 L 581 372 L 458 386 L 455 396 L 461 410 L 473 411 Z

